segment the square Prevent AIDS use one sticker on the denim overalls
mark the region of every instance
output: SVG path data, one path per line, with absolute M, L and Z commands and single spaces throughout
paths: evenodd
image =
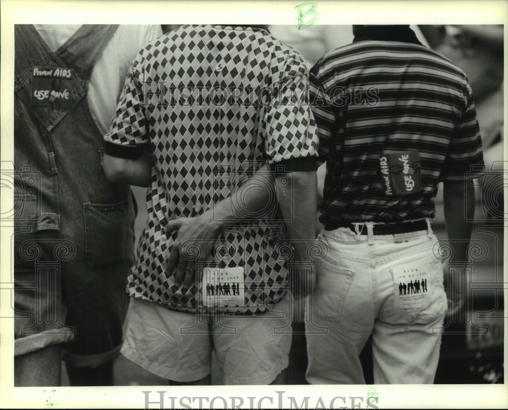
M 33 67 L 30 89 L 32 108 L 69 110 L 72 106 L 72 69 Z

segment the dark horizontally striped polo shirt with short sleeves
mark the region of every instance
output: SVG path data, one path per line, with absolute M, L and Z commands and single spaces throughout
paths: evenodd
M 310 71 L 320 161 L 327 162 L 321 222 L 433 218 L 439 181 L 462 180 L 483 165 L 464 73 L 409 27 L 388 27 L 364 27 Z M 394 195 L 380 159 L 409 150 L 417 150 L 421 190 Z

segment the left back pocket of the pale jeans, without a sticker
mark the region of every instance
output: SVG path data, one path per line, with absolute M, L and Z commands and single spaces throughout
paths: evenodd
M 325 260 L 320 260 L 317 264 L 313 311 L 323 319 L 339 322 L 354 273 Z

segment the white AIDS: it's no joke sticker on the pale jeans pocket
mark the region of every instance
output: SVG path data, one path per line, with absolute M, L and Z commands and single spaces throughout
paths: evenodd
M 424 307 L 429 303 L 429 272 L 423 263 L 392 269 L 395 307 Z

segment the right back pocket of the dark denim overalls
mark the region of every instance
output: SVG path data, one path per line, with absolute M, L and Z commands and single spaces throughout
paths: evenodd
M 128 200 L 111 204 L 83 204 L 85 262 L 90 269 L 125 259 Z

